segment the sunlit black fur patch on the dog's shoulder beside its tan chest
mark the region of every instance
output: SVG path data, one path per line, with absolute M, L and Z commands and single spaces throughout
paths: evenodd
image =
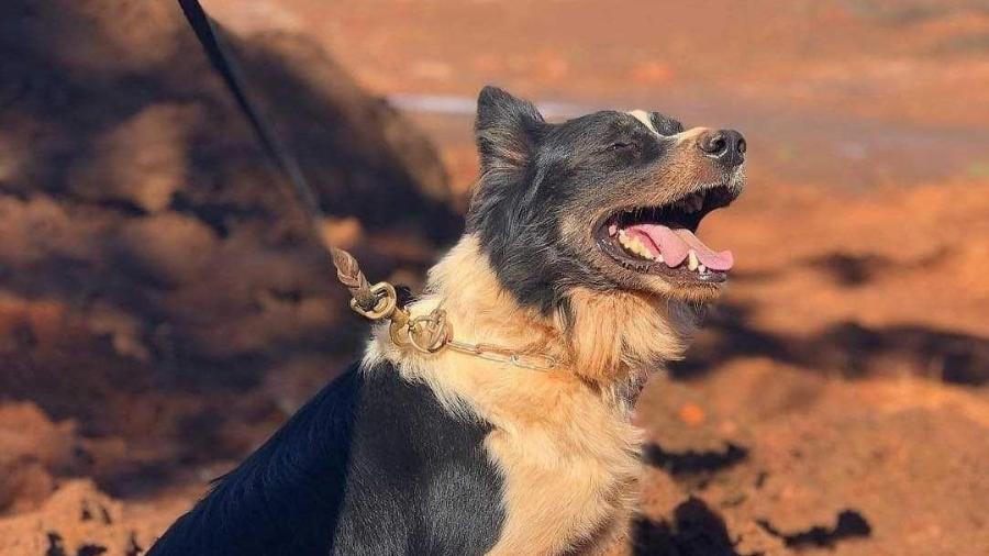
M 452 414 L 390 363 L 365 380 L 337 553 L 369 554 L 359 548 L 384 531 L 403 532 L 389 535 L 403 544 L 379 546 L 381 554 L 486 553 L 504 521 L 502 479 L 484 448 L 491 426 Z

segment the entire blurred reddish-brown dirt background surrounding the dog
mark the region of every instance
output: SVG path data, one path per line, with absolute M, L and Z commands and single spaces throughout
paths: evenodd
M 629 554 L 989 554 L 989 2 L 203 4 L 373 279 L 459 234 L 485 84 L 745 133 Z M 360 353 L 345 301 L 174 2 L 0 4 L 0 555 L 142 554 Z

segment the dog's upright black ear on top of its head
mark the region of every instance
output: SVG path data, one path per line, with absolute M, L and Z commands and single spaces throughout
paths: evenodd
M 481 89 L 475 123 L 481 171 L 524 168 L 545 125 L 532 102 L 497 87 Z

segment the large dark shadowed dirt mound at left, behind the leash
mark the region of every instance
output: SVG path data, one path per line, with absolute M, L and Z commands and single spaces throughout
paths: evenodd
M 311 40 L 229 42 L 324 234 L 421 276 L 462 225 L 432 145 Z M 155 454 L 70 469 L 111 492 L 241 457 L 366 326 L 178 5 L 2 2 L 0 66 L 0 401 Z

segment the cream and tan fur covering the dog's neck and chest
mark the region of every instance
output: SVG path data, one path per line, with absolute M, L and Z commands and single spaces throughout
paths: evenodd
M 505 522 L 492 555 L 597 554 L 622 532 L 640 469 L 631 404 L 645 372 L 679 355 L 690 326 L 684 307 L 658 298 L 577 290 L 570 302 L 569 316 L 521 308 L 466 235 L 431 270 L 413 315 L 443 307 L 456 340 L 548 353 L 560 368 L 400 349 L 384 326 L 365 358 L 365 368 L 390 360 L 451 411 L 493 426 L 486 448 L 504 477 Z

